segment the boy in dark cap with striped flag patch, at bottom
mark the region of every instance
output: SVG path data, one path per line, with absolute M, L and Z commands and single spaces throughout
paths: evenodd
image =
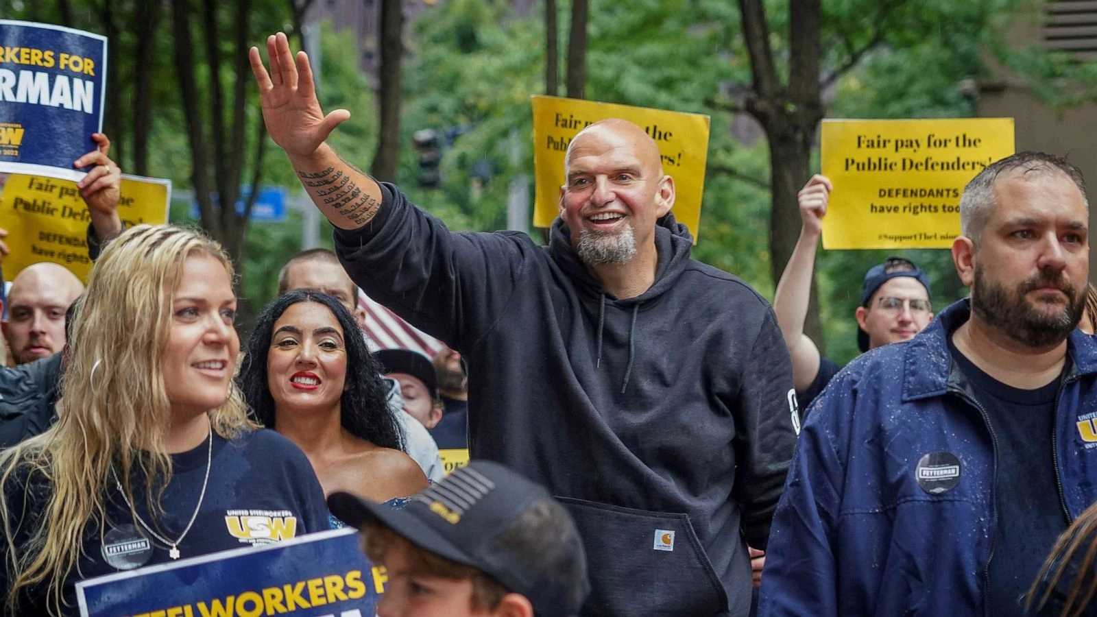
M 403 509 L 349 493 L 328 507 L 388 570 L 378 617 L 570 617 L 590 588 L 567 511 L 495 462 L 459 468 Z

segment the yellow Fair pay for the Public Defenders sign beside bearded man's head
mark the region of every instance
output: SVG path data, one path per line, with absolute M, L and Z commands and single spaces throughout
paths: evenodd
M 960 193 L 1014 154 L 1013 119 L 824 120 L 823 248 L 949 248 Z

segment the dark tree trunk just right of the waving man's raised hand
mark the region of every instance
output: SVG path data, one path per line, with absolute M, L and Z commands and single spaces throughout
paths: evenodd
M 371 175 L 377 180 L 396 181 L 400 152 L 400 59 L 404 55 L 404 11 L 400 0 L 381 0 L 381 48 L 378 99 L 381 134 L 373 155 Z

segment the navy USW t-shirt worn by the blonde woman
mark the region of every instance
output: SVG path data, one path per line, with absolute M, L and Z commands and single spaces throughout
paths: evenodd
M 173 473 L 160 502 L 161 515 L 149 515 L 144 487 L 134 486 L 138 515 L 160 536 L 176 540 L 194 514 L 205 478 L 207 448 L 208 442 L 203 441 L 193 450 L 171 456 Z M 267 429 L 245 433 L 231 441 L 214 435 L 212 457 L 202 507 L 186 537 L 179 542 L 182 559 L 329 529 L 324 491 L 308 459 L 289 439 Z M 31 529 L 43 524 L 41 513 L 48 498 L 49 487 L 41 479 L 32 480 L 29 489 L 30 503 L 26 505 L 30 507 L 23 509 L 22 482 L 12 481 L 5 486 L 9 512 L 15 516 L 25 513 L 14 532 L 16 547 L 26 541 Z M 106 543 L 122 546 L 122 540 L 133 538 L 135 530 L 142 529 L 152 548 L 145 565 L 171 561 L 169 547 L 133 520 L 113 480 L 108 486 L 108 495 Z M 13 519 L 16 525 L 14 520 L 18 518 Z M 84 529 L 83 557 L 78 562 L 79 574 L 73 569 L 65 579 L 64 598 L 68 603 L 63 607 L 65 615 L 79 613 L 77 581 L 120 571 L 108 563 L 103 543 L 99 525 L 89 523 Z M 0 559 L 3 560 L 0 561 L 0 597 L 8 597 L 11 584 L 3 565 L 7 564 L 7 542 L 0 541 Z M 45 615 L 47 598 L 44 586 L 33 591 L 24 587 L 20 594 L 20 614 Z

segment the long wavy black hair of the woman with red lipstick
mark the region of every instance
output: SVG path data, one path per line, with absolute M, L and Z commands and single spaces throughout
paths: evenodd
M 403 450 L 399 424 L 387 404 L 388 388 L 382 380 L 381 364 L 370 354 L 365 335 L 341 302 L 318 291 L 297 290 L 280 295 L 256 319 L 239 375 L 240 390 L 251 407 L 252 417 L 259 424 L 274 428 L 274 397 L 267 381 L 267 357 L 274 336 L 274 324 L 286 308 L 298 302 L 323 304 L 343 330 L 347 389 L 340 397 L 339 422 L 342 427 L 375 446 Z

